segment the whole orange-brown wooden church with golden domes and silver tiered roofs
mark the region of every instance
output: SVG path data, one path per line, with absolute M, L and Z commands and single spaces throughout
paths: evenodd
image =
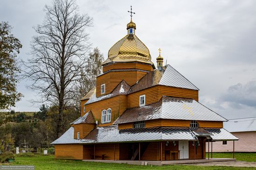
M 204 159 L 206 142 L 238 140 L 227 119 L 199 103 L 199 89 L 171 65 L 157 68 L 127 24 L 108 51 L 96 86 L 81 99 L 81 117 L 52 144 L 55 157 L 78 160 Z

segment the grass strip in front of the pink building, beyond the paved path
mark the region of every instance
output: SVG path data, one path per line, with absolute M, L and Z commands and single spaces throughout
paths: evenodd
M 208 153 L 206 153 L 208 157 Z M 211 153 L 210 153 L 211 157 Z M 213 158 L 233 158 L 232 153 L 213 153 Z M 246 162 L 256 162 L 256 153 L 235 153 L 235 158 L 237 161 L 246 161 Z

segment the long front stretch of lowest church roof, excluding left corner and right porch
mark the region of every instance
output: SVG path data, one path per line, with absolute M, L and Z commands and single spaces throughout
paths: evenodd
M 85 137 L 85 143 L 113 143 L 160 140 L 197 140 L 188 128 L 133 128 L 118 130 L 117 125 L 98 127 Z

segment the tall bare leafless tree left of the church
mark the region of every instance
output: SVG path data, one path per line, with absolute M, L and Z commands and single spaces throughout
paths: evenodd
M 37 35 L 31 43 L 32 59 L 24 62 L 25 75 L 32 80 L 29 87 L 40 99 L 58 106 L 55 137 L 63 133 L 63 112 L 72 105 L 74 86 L 86 76 L 86 54 L 91 44 L 85 29 L 92 26 L 92 18 L 79 14 L 74 0 L 54 0 L 45 6 L 46 16 L 34 27 Z

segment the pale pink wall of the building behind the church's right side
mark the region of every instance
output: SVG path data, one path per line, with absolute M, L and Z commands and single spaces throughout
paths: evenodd
M 256 131 L 232 132 L 239 138 L 235 141 L 235 152 L 256 152 Z M 209 144 L 211 152 L 211 143 Z M 208 144 L 206 146 L 208 152 Z M 227 141 L 227 144 L 222 144 L 222 141 L 212 143 L 213 152 L 233 152 L 233 141 Z

